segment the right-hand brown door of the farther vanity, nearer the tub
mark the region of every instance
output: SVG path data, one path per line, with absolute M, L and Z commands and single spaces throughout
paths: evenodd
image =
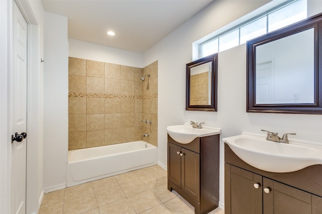
M 193 199 L 200 200 L 200 155 L 189 149 L 182 150 L 182 189 Z

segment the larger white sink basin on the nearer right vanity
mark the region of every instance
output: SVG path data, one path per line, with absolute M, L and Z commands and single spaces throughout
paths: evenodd
M 279 143 L 266 140 L 266 135 L 246 132 L 222 140 L 240 159 L 265 171 L 292 172 L 322 164 L 322 147 L 312 142 Z

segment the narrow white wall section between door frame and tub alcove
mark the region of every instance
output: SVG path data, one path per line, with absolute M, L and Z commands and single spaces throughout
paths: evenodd
M 68 151 L 67 18 L 45 12 L 44 191 L 66 185 Z

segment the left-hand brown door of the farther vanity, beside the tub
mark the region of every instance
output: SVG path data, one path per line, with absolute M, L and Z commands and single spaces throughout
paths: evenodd
M 168 142 L 168 179 L 181 188 L 181 147 Z

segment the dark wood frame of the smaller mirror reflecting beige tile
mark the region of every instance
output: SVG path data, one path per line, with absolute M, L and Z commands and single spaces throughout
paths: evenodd
M 211 62 L 211 101 L 210 105 L 191 105 L 190 103 L 190 70 Z M 217 111 L 217 70 L 218 70 L 218 53 L 203 57 L 186 64 L 186 110 L 193 111 Z

